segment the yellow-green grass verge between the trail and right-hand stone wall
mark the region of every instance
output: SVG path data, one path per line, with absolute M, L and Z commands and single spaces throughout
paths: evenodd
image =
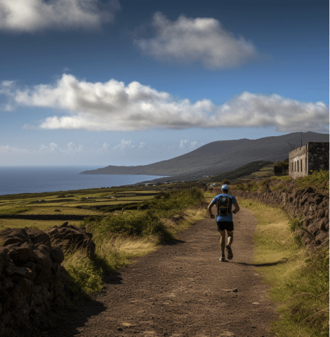
M 314 253 L 296 239 L 300 219 L 278 208 L 239 200 L 258 219 L 254 261 L 282 315 L 272 326 L 281 337 L 329 336 L 329 244 Z

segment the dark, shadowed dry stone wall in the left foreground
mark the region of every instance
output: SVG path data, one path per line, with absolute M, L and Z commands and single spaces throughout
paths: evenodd
M 95 253 L 91 234 L 67 222 L 48 232 L 27 227 L 0 232 L 0 336 L 39 324 L 53 305 L 62 305 L 68 278 L 62 249 L 69 247 Z

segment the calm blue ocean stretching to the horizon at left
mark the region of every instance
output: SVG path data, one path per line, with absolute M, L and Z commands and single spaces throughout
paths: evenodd
M 100 166 L 0 166 L 0 195 L 131 185 L 160 176 L 79 174 Z

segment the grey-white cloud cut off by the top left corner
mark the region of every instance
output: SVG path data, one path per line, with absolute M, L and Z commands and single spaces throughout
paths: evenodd
M 117 0 L 107 6 L 98 0 L 0 0 L 0 30 L 94 29 L 114 20 L 119 8 Z

